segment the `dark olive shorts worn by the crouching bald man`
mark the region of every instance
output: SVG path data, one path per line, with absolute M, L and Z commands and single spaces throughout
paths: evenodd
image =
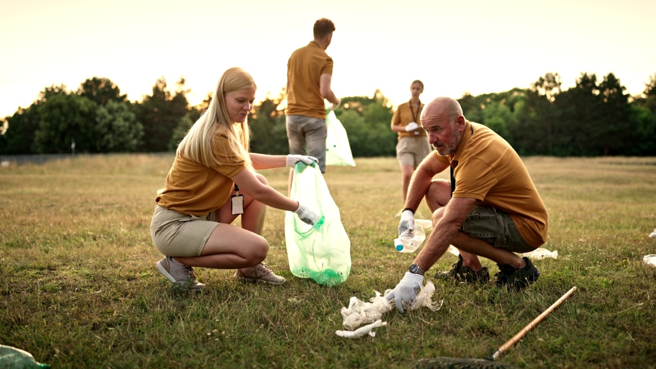
M 495 248 L 518 253 L 536 249 L 522 238 L 510 216 L 494 207 L 474 206 L 462 223 L 461 231 L 474 238 L 481 238 Z

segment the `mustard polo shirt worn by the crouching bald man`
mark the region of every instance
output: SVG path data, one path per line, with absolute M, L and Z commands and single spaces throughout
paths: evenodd
M 440 162 L 458 162 L 453 171 L 453 197 L 475 198 L 482 201 L 480 206 L 505 211 L 523 239 L 540 247 L 546 242 L 548 215 L 522 159 L 508 142 L 485 125 L 470 121 L 466 124 L 453 156 L 434 152 Z

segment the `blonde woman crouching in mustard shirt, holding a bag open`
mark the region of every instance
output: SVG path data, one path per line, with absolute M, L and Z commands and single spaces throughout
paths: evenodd
M 249 152 L 247 116 L 255 89 L 253 77 L 241 68 L 224 72 L 207 112 L 180 142 L 165 186 L 157 192 L 150 233 L 165 255 L 157 269 L 173 283 L 200 290 L 205 285 L 196 280 L 193 267 L 205 267 L 237 269 L 238 280 L 283 284 L 285 278 L 262 263 L 269 250 L 261 236 L 266 207 L 293 211 L 308 224 L 319 219 L 255 173 L 317 161 Z M 231 225 L 240 214 L 241 227 Z

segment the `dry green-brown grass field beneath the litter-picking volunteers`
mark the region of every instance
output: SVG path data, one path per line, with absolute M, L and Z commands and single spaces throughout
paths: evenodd
M 525 158 L 550 215 L 520 293 L 436 282 L 439 311 L 392 311 L 348 340 L 340 309 L 393 288 L 415 254 L 392 248 L 401 209 L 394 158 L 328 167 L 352 269 L 328 288 L 289 272 L 284 212 L 269 209 L 268 265 L 283 286 L 197 269 L 201 293 L 155 268 L 155 191 L 173 156 L 111 155 L 0 168 L 0 343 L 53 368 L 408 368 L 419 358 L 487 357 L 572 286 L 578 291 L 501 358 L 521 368 L 656 368 L 656 158 Z M 287 171 L 262 171 L 285 193 Z M 446 178 L 448 173 L 444 176 Z M 422 204 L 419 213 L 429 217 Z M 446 270 L 446 254 L 427 275 Z M 497 267 L 483 259 L 491 273 Z M 428 278 L 432 279 L 432 278 Z

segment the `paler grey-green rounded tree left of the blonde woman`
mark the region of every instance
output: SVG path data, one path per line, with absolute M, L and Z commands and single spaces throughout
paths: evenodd
M 141 147 L 144 127 L 127 102 L 108 100 L 96 111 L 96 152 L 135 152 Z

